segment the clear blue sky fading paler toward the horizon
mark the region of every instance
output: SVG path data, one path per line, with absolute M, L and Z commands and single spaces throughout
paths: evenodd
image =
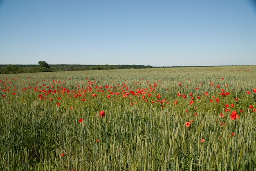
M 0 0 L 0 64 L 256 65 L 253 0 Z

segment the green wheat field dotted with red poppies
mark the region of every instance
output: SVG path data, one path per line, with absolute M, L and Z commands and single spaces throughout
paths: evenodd
M 0 75 L 1 170 L 255 170 L 256 66 Z

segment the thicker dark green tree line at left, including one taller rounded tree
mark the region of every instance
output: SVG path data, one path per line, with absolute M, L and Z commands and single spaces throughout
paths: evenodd
M 0 64 L 0 74 L 8 73 L 34 73 L 51 71 L 85 71 L 85 70 L 107 70 L 107 69 L 141 69 L 153 68 L 149 65 L 82 65 L 82 64 L 48 64 L 45 61 L 39 61 L 38 65 Z

